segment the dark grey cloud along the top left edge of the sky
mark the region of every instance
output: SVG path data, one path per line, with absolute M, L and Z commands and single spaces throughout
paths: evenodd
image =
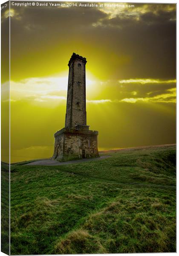
M 12 26 L 14 21 L 26 29 L 27 26 L 38 30 L 43 30 L 47 33 L 54 33 L 54 31 L 65 31 L 65 29 L 78 29 L 79 26 L 90 26 L 99 19 L 107 17 L 107 14 L 98 9 L 84 9 L 84 8 L 58 8 L 58 7 L 28 7 L 21 9 L 12 7 L 16 13 L 12 17 Z M 13 30 L 17 29 L 12 27 Z M 50 29 L 50 30 L 49 30 Z M 68 31 L 72 32 L 71 30 Z

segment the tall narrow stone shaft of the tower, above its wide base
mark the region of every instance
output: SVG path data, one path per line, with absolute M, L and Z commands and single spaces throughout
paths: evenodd
M 68 93 L 66 103 L 66 128 L 83 128 L 87 126 L 86 113 L 86 58 L 73 53 L 68 66 Z

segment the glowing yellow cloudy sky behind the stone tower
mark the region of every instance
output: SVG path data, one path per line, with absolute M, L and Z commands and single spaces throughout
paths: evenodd
M 87 58 L 87 125 L 99 150 L 176 142 L 176 5 L 120 4 L 11 6 L 11 162 L 52 156 L 73 52 Z M 5 11 L 4 33 L 8 20 Z

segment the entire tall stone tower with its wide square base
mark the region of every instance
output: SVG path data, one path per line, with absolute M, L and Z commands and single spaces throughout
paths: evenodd
M 52 160 L 99 157 L 98 131 L 89 130 L 86 112 L 86 58 L 75 53 L 69 60 L 65 128 L 54 135 Z

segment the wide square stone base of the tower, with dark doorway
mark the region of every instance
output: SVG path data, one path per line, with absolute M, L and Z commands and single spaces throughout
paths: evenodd
M 52 160 L 60 162 L 99 157 L 98 131 L 89 130 L 87 125 L 78 125 L 76 129 L 63 128 L 56 132 Z

